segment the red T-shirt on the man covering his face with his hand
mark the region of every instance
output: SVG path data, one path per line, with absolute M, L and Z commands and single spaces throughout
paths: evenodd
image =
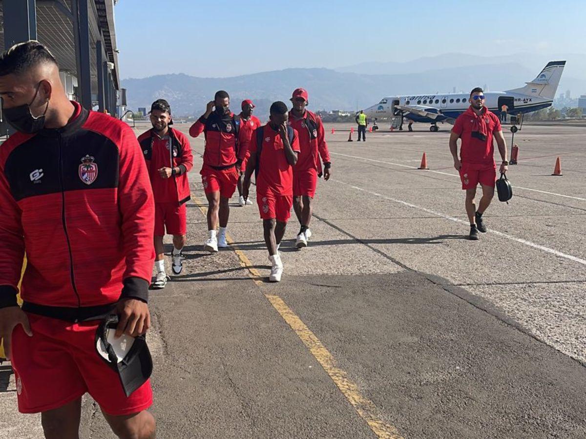
M 293 167 L 287 162 L 285 147 L 281 136 L 269 124 L 263 128 L 263 149 L 261 150 L 260 169 L 256 177 L 257 193 L 265 194 L 271 191 L 275 195 L 293 195 Z M 294 131 L 291 148 L 299 152 L 299 136 Z M 250 139 L 250 152 L 256 153 L 256 134 Z

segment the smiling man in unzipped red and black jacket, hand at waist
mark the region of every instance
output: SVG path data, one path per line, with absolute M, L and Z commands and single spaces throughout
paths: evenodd
M 142 153 L 147 160 L 155 197 L 155 282 L 154 289 L 165 288 L 170 279 L 165 272 L 163 236 L 173 235 L 171 269 L 179 275 L 183 269 L 183 246 L 187 233 L 187 209 L 191 199 L 187 173 L 193 167 L 193 155 L 188 138 L 171 126 L 171 107 L 164 99 L 151 105 L 152 129 L 138 137 Z

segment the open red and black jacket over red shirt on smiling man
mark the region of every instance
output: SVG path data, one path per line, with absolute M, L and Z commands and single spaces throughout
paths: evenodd
M 193 167 L 193 155 L 189 139 L 185 134 L 169 127 L 167 132 L 171 139 L 171 151 L 163 145 L 161 138 L 156 135 L 154 129 L 138 136 L 142 155 L 147 161 L 147 169 L 151 178 L 152 192 L 155 203 L 186 203 L 191 198 L 187 173 Z M 171 160 L 171 156 L 173 159 Z M 171 179 L 162 179 L 159 169 L 162 167 L 179 167 L 179 174 Z

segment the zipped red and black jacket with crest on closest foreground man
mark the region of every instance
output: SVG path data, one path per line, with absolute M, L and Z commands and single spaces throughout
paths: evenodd
M 60 129 L 0 146 L 0 307 L 91 320 L 148 300 L 154 202 L 132 129 L 81 108 Z

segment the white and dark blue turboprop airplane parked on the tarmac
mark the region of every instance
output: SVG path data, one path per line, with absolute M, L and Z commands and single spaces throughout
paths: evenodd
M 565 61 L 550 61 L 539 75 L 524 87 L 506 91 L 485 92 L 485 105 L 500 116 L 503 112 L 519 115 L 550 107 L 560 83 Z M 402 116 L 414 122 L 430 123 L 430 131 L 438 131 L 437 122 L 453 124 L 469 107 L 469 93 L 390 96 L 364 110 L 373 119 Z M 511 127 L 515 132 L 516 126 Z

